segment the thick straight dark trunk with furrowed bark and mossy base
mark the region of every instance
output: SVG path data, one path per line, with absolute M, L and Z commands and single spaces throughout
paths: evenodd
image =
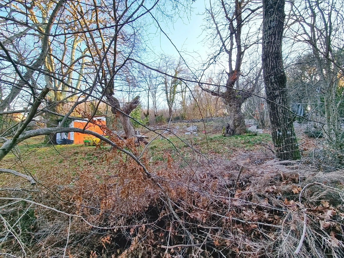
M 287 109 L 287 78 L 282 61 L 284 3 L 285 1 L 279 0 L 263 0 L 262 61 L 276 157 L 281 160 L 295 160 L 300 158 L 300 152 Z

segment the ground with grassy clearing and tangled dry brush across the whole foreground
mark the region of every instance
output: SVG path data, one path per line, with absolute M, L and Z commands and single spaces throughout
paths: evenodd
M 1 175 L 0 252 L 14 257 L 344 256 L 343 170 L 319 170 L 310 155 L 297 162 L 272 159 L 260 143 L 269 143 L 267 135 L 230 141 L 215 135 L 207 143 L 194 136 L 187 144 L 170 140 L 177 148 L 164 139 L 148 146 L 141 162 L 149 174 L 109 148 L 21 147 L 5 162 L 35 171 L 37 183 L 28 186 Z M 144 147 L 126 148 L 139 156 Z M 216 155 L 209 159 L 209 152 Z

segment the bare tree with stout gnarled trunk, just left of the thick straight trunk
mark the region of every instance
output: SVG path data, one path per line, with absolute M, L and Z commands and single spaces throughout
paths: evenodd
M 241 65 L 245 52 L 249 47 L 258 43 L 258 40 L 252 40 L 254 36 L 247 25 L 254 17 L 253 14 L 260 8 L 251 1 L 235 0 L 233 3 L 228 3 L 222 0 L 218 9 L 213 8 L 210 3 L 210 8 L 207 10 L 215 27 L 215 36 L 220 42 L 219 54 L 216 54 L 213 59 L 216 60 L 222 52 L 226 53 L 229 71 L 226 72 L 227 81 L 224 92 L 220 89 L 207 89 L 202 85 L 200 87 L 214 96 L 221 97 L 227 105 L 230 122 L 226 125 L 224 136 L 241 135 L 246 132 L 241 106 L 254 92 L 256 84 L 245 83 L 242 85 Z M 223 15 L 224 17 L 222 17 Z M 242 34 L 244 28 L 249 31 L 245 36 Z

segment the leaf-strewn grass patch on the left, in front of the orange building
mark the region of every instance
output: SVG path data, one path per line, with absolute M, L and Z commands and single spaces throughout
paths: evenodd
M 68 181 L 80 171 L 89 169 L 95 174 L 106 172 L 107 166 L 114 162 L 111 164 L 105 162 L 101 152 L 102 150 L 95 151 L 95 147 L 83 144 L 44 147 L 41 147 L 40 143 L 21 144 L 15 149 L 15 154 L 6 155 L 0 165 L 21 173 L 29 172 L 38 180 L 49 180 L 46 176 L 54 174 L 60 178 L 60 184 L 69 184 Z M 13 175 L 0 174 L 0 186 L 11 184 L 12 180 Z

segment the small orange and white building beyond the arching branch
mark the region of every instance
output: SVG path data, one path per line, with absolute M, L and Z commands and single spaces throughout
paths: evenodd
M 80 120 L 73 120 L 69 124 L 69 127 L 76 127 L 83 129 L 86 126 L 86 121 Z M 86 126 L 86 130 L 94 131 L 99 133 L 100 135 L 105 135 L 105 132 L 101 130 L 101 127 L 106 126 L 105 117 L 94 117 L 92 122 L 89 122 Z M 74 143 L 80 144 L 84 143 L 85 136 L 92 136 L 88 135 L 87 133 L 79 133 L 79 132 L 60 132 L 56 134 L 56 143 L 57 144 L 66 144 L 66 143 Z

